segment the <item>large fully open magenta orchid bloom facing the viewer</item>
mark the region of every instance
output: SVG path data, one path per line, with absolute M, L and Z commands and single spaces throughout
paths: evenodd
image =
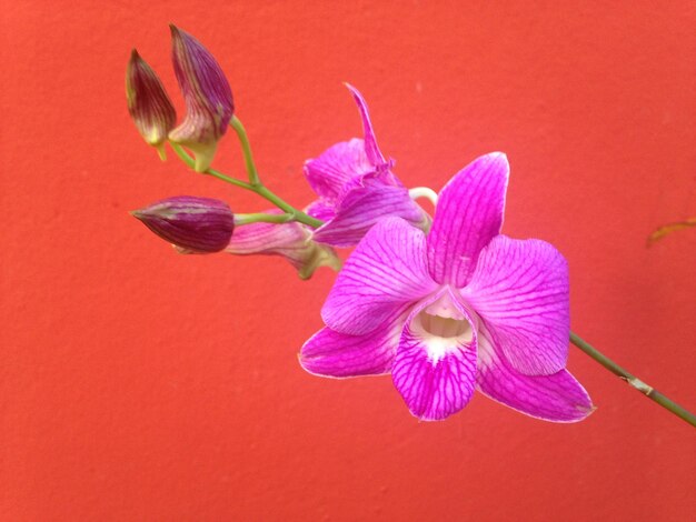
M 568 267 L 544 241 L 499 234 L 508 172 L 501 153 L 461 170 L 427 237 L 399 218 L 376 224 L 339 273 L 302 367 L 390 372 L 422 420 L 459 411 L 475 389 L 539 419 L 586 418 L 589 396 L 565 369 Z

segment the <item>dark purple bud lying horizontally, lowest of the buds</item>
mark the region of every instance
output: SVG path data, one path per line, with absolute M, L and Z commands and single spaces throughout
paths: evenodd
M 195 253 L 223 250 L 235 230 L 228 204 L 210 198 L 177 195 L 131 213 L 165 241 Z

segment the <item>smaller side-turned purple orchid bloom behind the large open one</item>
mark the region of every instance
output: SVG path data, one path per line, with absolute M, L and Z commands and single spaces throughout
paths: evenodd
M 305 175 L 319 195 L 307 212 L 326 223 L 314 239 L 335 247 L 351 247 L 380 219 L 397 215 L 419 228 L 430 219 L 408 195 L 377 147 L 362 96 L 346 84 L 358 104 L 365 139 L 354 138 L 327 149 L 305 163 Z

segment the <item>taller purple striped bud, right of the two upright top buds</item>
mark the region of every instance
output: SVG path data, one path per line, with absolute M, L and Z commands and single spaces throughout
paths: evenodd
M 203 172 L 210 167 L 218 141 L 235 112 L 232 91 L 212 54 L 189 33 L 175 26 L 170 28 L 175 73 L 187 113 L 169 139 L 191 149 L 195 169 Z

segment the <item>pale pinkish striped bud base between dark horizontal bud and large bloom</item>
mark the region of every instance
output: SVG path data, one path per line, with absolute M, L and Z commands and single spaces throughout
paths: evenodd
M 267 210 L 265 213 L 280 213 Z M 297 221 L 289 223 L 257 222 L 239 227 L 225 251 L 236 255 L 281 255 L 309 279 L 319 267 L 340 269 L 341 261 L 334 249 L 311 239 L 311 232 Z

